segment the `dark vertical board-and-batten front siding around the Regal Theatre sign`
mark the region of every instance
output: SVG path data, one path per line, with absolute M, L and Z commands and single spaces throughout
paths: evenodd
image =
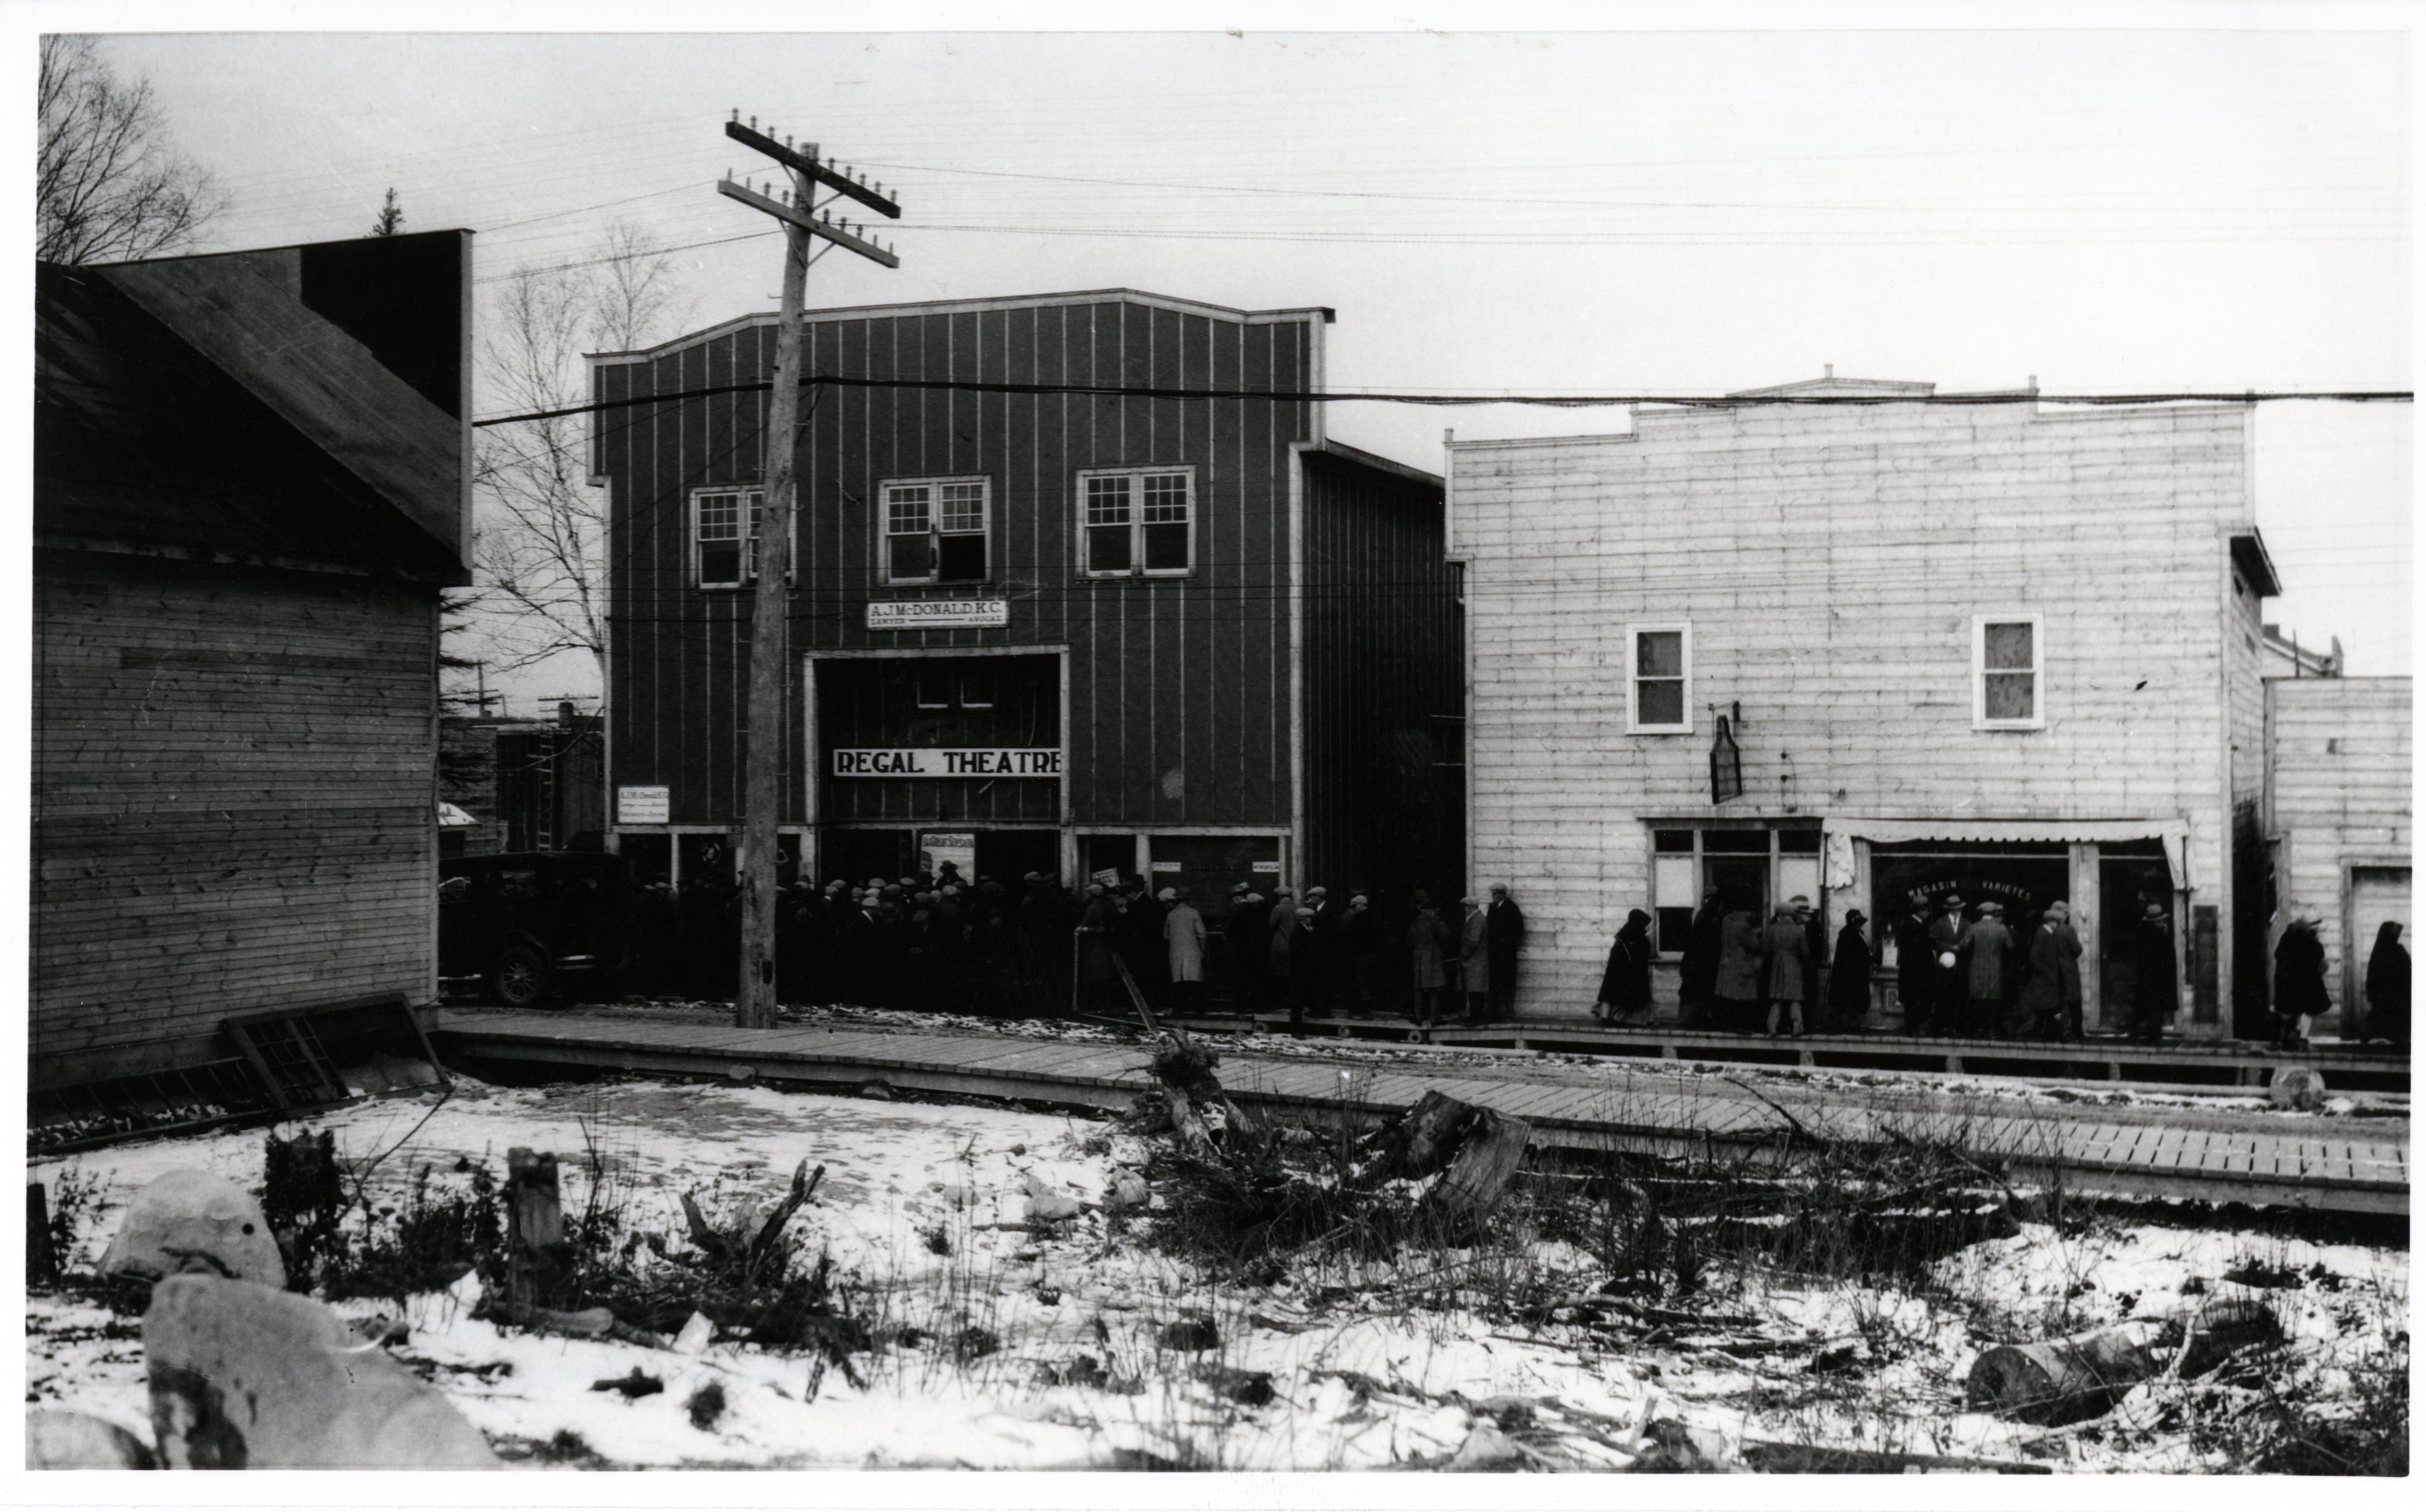
M 1007 310 L 810 315 L 815 371 L 871 378 L 1293 388 L 1310 320 L 1228 320 L 1092 296 Z M 711 332 L 643 361 L 597 363 L 599 397 L 747 383 L 771 368 L 774 327 Z M 611 487 L 611 785 L 672 788 L 674 824 L 738 821 L 738 739 L 752 591 L 701 591 L 689 572 L 689 494 L 759 482 L 764 393 L 614 412 L 597 465 Z M 725 414 L 718 439 L 711 414 Z M 801 434 L 798 659 L 818 652 L 1070 647 L 1067 807 L 1082 824 L 1286 829 L 1288 443 L 1308 405 L 1118 395 L 820 390 Z M 1080 574 L 1077 472 L 1196 472 L 1196 572 Z M 992 579 L 876 584 L 878 487 L 890 477 L 992 480 Z M 1009 630 L 869 632 L 869 598 L 1009 598 Z M 786 821 L 805 819 L 803 678 L 786 678 Z M 910 809 L 956 819 L 961 797 Z M 832 785 L 827 785 L 832 792 Z M 866 800 L 854 797 L 852 804 Z M 1012 804 L 1026 814 L 1024 797 Z M 835 814 L 827 814 L 835 817 Z

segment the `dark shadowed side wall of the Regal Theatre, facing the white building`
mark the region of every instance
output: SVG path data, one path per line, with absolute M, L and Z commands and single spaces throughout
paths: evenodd
M 1465 778 L 1434 768 L 1434 717 L 1463 712 L 1441 489 L 1325 453 L 1303 465 L 1305 880 L 1451 901 Z

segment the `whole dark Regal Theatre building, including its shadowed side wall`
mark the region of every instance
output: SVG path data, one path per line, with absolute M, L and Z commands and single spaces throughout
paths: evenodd
M 1329 310 L 1135 291 L 820 310 L 786 850 L 902 875 L 1458 889 L 1441 480 L 1322 434 Z M 774 315 L 592 359 L 609 795 L 645 870 L 728 865 Z M 1075 395 L 1058 388 L 1247 397 Z M 1291 397 L 1254 397 L 1254 395 Z

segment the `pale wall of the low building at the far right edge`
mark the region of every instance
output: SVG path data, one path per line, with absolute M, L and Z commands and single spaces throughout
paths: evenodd
M 2334 1006 L 2348 1008 L 2373 940 L 2346 940 L 2344 865 L 2409 865 L 2409 678 L 2276 678 L 2273 831 L 2283 838 L 2285 904 L 2317 909 Z M 2402 938 L 2414 945 L 2414 935 Z M 2356 945 L 2356 957 L 2351 955 Z

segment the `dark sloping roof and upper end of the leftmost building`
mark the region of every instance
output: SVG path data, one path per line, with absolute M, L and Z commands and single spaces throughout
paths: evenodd
M 383 240 L 39 267 L 36 540 L 461 582 L 468 233 Z

